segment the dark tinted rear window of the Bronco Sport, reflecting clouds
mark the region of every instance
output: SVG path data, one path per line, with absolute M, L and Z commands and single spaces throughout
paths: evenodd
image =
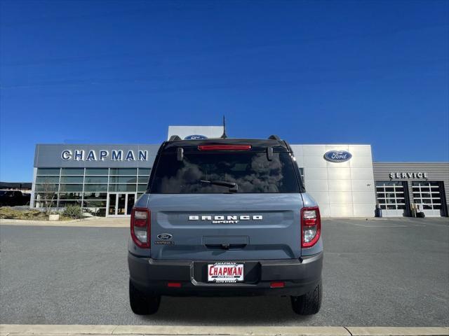
M 299 193 L 289 153 L 185 153 L 184 160 L 163 154 L 154 172 L 151 193 L 227 193 L 229 186 L 205 181 L 236 183 L 237 193 Z

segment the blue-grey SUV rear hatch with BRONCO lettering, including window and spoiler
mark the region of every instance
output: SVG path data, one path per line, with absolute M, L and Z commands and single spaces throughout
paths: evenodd
M 148 200 L 152 258 L 299 258 L 302 187 L 288 147 L 197 142 L 168 143 L 156 158 Z

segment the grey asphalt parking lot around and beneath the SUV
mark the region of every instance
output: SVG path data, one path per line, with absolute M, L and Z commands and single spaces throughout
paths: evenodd
M 297 316 L 288 297 L 163 297 L 128 307 L 126 228 L 1 225 L 0 323 L 449 325 L 448 218 L 323 221 L 324 298 Z

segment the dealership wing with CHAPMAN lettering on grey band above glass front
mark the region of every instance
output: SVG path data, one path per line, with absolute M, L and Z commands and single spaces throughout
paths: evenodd
M 78 205 L 93 216 L 130 216 L 145 193 L 158 145 L 38 144 L 30 205 Z

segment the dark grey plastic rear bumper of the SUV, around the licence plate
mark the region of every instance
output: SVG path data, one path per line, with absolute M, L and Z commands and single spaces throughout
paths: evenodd
M 215 261 L 220 260 L 155 260 L 128 253 L 134 286 L 147 293 L 169 296 L 303 295 L 321 279 L 323 253 L 293 260 L 242 260 L 246 281 L 241 283 L 206 282 L 207 265 Z M 270 288 L 272 281 L 283 281 L 285 286 Z M 168 282 L 179 282 L 181 286 L 168 287 Z

